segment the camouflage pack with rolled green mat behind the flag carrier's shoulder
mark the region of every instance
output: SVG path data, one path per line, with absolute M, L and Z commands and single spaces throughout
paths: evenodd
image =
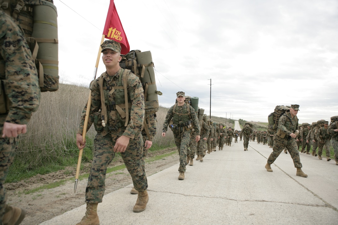
M 141 80 L 144 90 L 146 114 L 156 113 L 159 110 L 158 95 L 162 95 L 162 92 L 156 89 L 154 63 L 151 52 L 131 50 L 127 54 L 121 55 L 121 57 L 120 67 L 131 70 Z

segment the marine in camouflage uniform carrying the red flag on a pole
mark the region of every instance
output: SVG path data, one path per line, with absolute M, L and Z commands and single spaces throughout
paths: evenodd
M 101 105 L 99 77 L 90 84 L 91 106 L 87 131 L 94 123 L 97 135 L 94 139 L 94 156 L 86 187 L 87 211 L 78 225 L 99 223 L 97 204 L 102 202 L 106 170 L 114 159 L 115 153 L 121 153 L 134 187 L 138 191 L 138 199 L 133 211 L 145 210 L 149 199 L 148 182 L 143 167 L 143 140 L 141 135 L 145 114 L 143 87 L 136 75 L 132 74 L 130 70 L 120 67 L 119 62 L 122 58 L 120 56 L 121 46 L 118 42 L 107 40 L 103 42 L 101 47 L 102 60 L 106 67 L 106 72 L 101 75 L 103 86 L 106 87 L 102 90 L 105 105 Z M 127 103 L 124 102 L 125 96 L 122 87 L 124 81 L 127 86 Z M 85 145 L 82 133 L 87 107 L 86 104 L 76 134 L 76 143 L 79 149 L 82 149 Z M 128 111 L 126 111 L 127 107 Z M 104 127 L 101 124 L 101 113 L 99 112 L 102 109 L 107 110 L 107 121 Z M 117 111 L 117 109 L 121 110 Z M 126 116 L 126 113 L 129 116 Z M 128 120 L 127 126 L 125 126 L 126 120 Z

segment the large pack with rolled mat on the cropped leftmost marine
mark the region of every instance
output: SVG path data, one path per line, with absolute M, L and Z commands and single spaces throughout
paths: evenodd
M 0 7 L 18 21 L 24 31 L 38 70 L 41 92 L 57 91 L 57 11 L 53 0 L 0 0 Z M 0 70 L 4 70 L 1 63 Z

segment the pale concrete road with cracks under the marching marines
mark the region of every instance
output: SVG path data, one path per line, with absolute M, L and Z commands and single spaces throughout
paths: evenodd
M 271 173 L 264 168 L 271 151 L 257 142 L 243 151 L 238 141 L 187 166 L 184 180 L 177 179 L 177 163 L 148 177 L 149 202 L 141 213 L 132 211 L 132 184 L 105 195 L 100 224 L 338 224 L 335 161 L 300 153 L 304 178 L 283 152 Z M 82 205 L 41 224 L 76 224 L 85 211 Z

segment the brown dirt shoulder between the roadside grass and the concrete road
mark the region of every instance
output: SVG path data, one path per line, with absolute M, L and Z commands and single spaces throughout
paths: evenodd
M 176 151 L 176 148 L 168 148 L 161 151 L 149 152 L 146 157 L 145 171 L 147 176 L 167 169 L 179 162 L 178 154 L 173 154 L 162 159 L 147 162 L 147 159 Z M 122 160 L 114 162 L 111 167 L 123 164 Z M 83 165 L 81 173 L 88 173 L 90 164 Z M 75 181 L 74 167 L 65 168 L 65 170 L 53 172 L 46 175 L 37 175 L 18 183 L 6 183 L 7 203 L 27 210 L 27 215 L 22 225 L 35 225 L 61 215 L 66 211 L 79 207 L 84 203 L 85 189 L 87 179 L 78 181 L 76 193 L 74 194 Z M 73 179 L 72 179 L 73 178 Z M 64 184 L 51 189 L 42 189 L 30 194 L 28 191 L 39 189 L 41 186 L 66 180 Z M 122 169 L 106 174 L 105 194 L 109 194 L 132 183 L 127 169 Z M 83 212 L 84 215 L 84 212 Z

